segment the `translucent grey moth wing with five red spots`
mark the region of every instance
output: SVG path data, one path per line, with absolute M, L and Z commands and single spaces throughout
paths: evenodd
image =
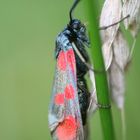
M 49 108 L 49 127 L 53 139 L 82 140 L 84 137 L 72 46 L 62 49 L 57 57 Z

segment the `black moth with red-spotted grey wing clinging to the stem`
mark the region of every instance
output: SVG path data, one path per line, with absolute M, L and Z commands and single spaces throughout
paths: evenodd
M 84 140 L 89 106 L 89 91 L 84 78 L 88 71 L 89 46 L 86 27 L 78 19 L 72 19 L 56 39 L 56 71 L 49 107 L 49 128 L 53 140 Z

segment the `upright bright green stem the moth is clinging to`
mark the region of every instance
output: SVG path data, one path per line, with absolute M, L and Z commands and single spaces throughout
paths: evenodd
M 104 61 L 101 50 L 101 40 L 99 35 L 99 26 L 98 26 L 98 15 L 97 15 L 97 0 L 87 0 L 87 14 L 89 21 L 89 31 L 90 31 L 90 41 L 91 41 L 91 53 L 92 60 L 95 70 L 103 70 Z M 110 105 L 109 100 L 109 90 L 108 90 L 108 82 L 106 72 L 95 73 L 96 80 L 96 90 L 97 90 L 97 98 L 98 103 L 101 105 Z M 112 123 L 112 115 L 111 109 L 99 109 L 102 130 L 103 130 L 103 138 L 104 140 L 115 140 L 114 129 Z

